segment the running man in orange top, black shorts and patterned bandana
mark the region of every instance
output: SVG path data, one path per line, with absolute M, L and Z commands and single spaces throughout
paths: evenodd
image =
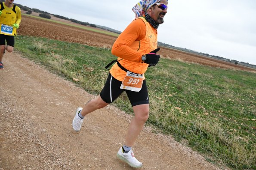
M 104 88 L 83 108 L 77 108 L 73 119 L 74 130 L 80 131 L 86 114 L 107 106 L 125 91 L 135 116 L 117 157 L 132 167 L 142 167 L 131 148 L 148 119 L 149 98 L 144 73 L 148 66 L 155 66 L 159 61 L 160 56 L 156 54 L 160 49 L 157 48 L 157 28 L 163 23 L 167 4 L 168 0 L 142 0 L 133 7 L 136 19 L 114 42 L 111 52 L 118 57 L 117 63 L 110 69 Z

